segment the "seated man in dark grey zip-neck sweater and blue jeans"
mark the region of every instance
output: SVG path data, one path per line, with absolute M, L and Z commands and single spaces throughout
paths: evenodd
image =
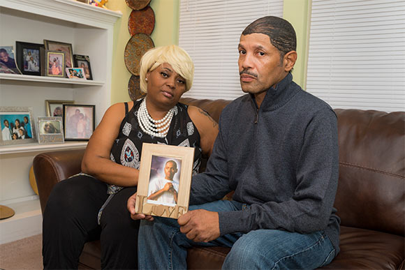
M 131 217 L 145 219 L 140 269 L 186 269 L 191 246 L 231 247 L 223 269 L 316 269 L 337 255 L 337 118 L 292 81 L 295 47 L 279 17 L 244 29 L 238 64 L 248 94 L 221 114 L 207 170 L 191 183 L 191 211 L 177 224 L 136 214 L 128 200 Z M 230 190 L 233 200 L 221 200 Z

